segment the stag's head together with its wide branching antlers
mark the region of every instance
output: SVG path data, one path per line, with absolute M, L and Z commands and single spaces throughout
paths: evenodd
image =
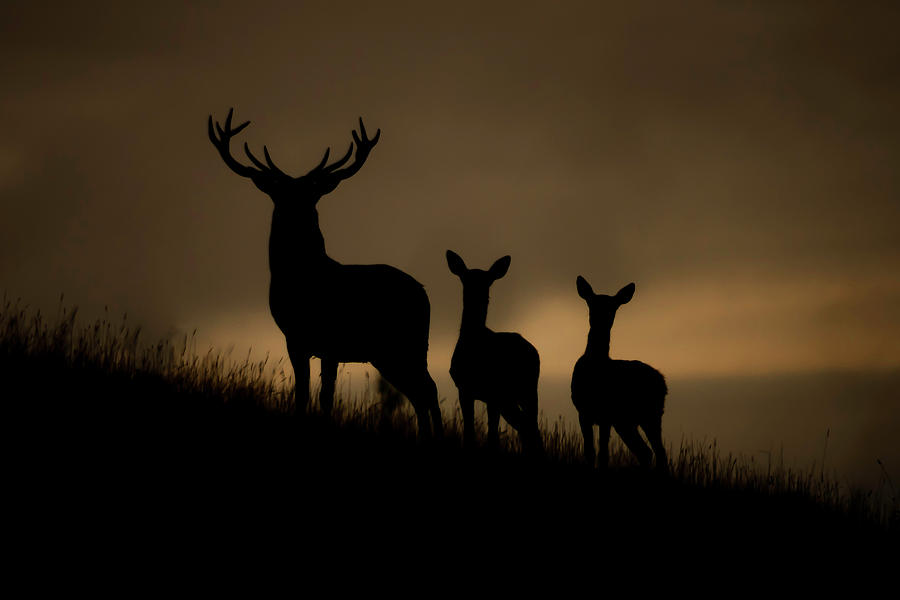
M 228 165 L 232 171 L 242 177 L 247 177 L 256 185 L 260 191 L 267 194 L 272 201 L 278 206 L 282 203 L 290 203 L 292 205 L 302 204 L 306 207 L 315 208 L 319 199 L 334 191 L 338 184 L 352 177 L 369 156 L 369 152 L 378 143 L 381 136 L 381 130 L 375 132 L 375 137 L 369 139 L 366 135 L 366 127 L 363 125 L 362 118 L 359 119 L 359 133 L 354 130 L 352 132 L 353 142 L 350 148 L 339 160 L 328 164 L 328 155 L 331 148 L 325 150 L 325 156 L 319 161 L 319 164 L 312 168 L 305 175 L 293 177 L 282 171 L 272 157 L 269 155 L 269 149 L 263 146 L 263 156 L 265 163 L 256 158 L 247 143 L 244 143 L 244 153 L 253 166 L 245 165 L 231 155 L 231 138 L 240 133 L 250 121 L 241 123 L 237 127 L 232 127 L 231 118 L 234 109 L 229 109 L 228 117 L 225 119 L 225 127 L 219 125 L 218 121 L 213 122 L 212 115 L 209 117 L 209 141 L 212 142 L 216 150 L 222 156 L 222 160 Z M 347 167 L 344 165 L 350 160 L 353 154 L 353 145 L 356 144 L 356 156 L 353 163 Z M 344 168 L 341 168 L 344 167 Z

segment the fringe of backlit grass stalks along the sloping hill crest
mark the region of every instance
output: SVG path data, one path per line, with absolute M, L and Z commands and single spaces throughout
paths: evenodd
M 22 365 L 38 366 L 52 375 L 54 370 L 90 371 L 101 377 L 133 380 L 137 385 L 152 380 L 158 393 L 202 398 L 220 405 L 240 404 L 258 413 L 287 416 L 293 411 L 293 379 L 285 373 L 283 360 L 270 363 L 251 361 L 248 356 L 234 360 L 210 349 L 196 350 L 196 331 L 178 342 L 162 340 L 144 344 L 140 327 L 132 327 L 127 315 L 114 326 L 108 314 L 84 326 L 77 324 L 77 310 L 60 308 L 53 323 L 39 311 L 20 306 L 4 297 L 0 309 L 0 361 L 7 370 Z M 368 376 L 367 376 L 368 377 Z M 39 386 L 39 381 L 31 382 Z M 313 390 L 316 397 L 317 390 Z M 128 402 L 128 398 L 122 398 Z M 448 405 L 449 404 L 449 408 Z M 315 407 L 310 409 L 315 411 Z M 444 444 L 461 447 L 462 415 L 456 402 L 443 402 L 446 421 Z M 336 393 L 331 419 L 337 427 L 354 428 L 414 443 L 416 418 L 409 403 L 381 381 L 369 382 L 361 393 L 344 388 Z M 486 425 L 483 411 L 476 427 L 483 443 Z M 548 423 L 541 415 L 540 428 L 546 450 L 545 462 L 563 466 L 579 465 L 583 443 L 581 431 L 562 417 Z M 830 432 L 829 432 L 830 433 Z M 753 457 L 723 454 L 715 440 L 682 438 L 678 448 L 668 448 L 670 478 L 686 486 L 716 488 L 778 498 L 812 501 L 825 510 L 839 511 L 885 527 L 898 526 L 900 499 L 894 483 L 882 468 L 882 485 L 877 490 L 861 490 L 838 483 L 821 464 L 798 470 L 786 467 L 783 453 L 769 455 L 765 463 Z M 520 452 L 518 436 L 501 427 L 501 452 Z M 879 464 L 881 462 L 879 461 Z M 610 445 L 610 470 L 637 469 L 633 456 L 614 435 Z

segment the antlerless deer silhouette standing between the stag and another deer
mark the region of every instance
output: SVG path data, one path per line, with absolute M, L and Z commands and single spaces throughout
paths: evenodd
M 534 346 L 518 333 L 499 333 L 485 325 L 491 284 L 506 275 L 511 258 L 498 259 L 490 269 L 468 269 L 463 259 L 447 250 L 450 272 L 463 284 L 463 314 L 459 340 L 450 360 L 450 377 L 459 390 L 463 440 L 475 441 L 475 400 L 487 404 L 488 445 L 499 444 L 502 415 L 516 431 L 523 449 L 542 451 L 538 429 L 538 377 L 541 359 Z

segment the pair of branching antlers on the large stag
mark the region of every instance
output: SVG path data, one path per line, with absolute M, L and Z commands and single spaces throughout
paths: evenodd
M 359 119 L 359 134 L 357 134 L 356 130 L 352 131 L 353 142 L 350 143 L 350 147 L 347 149 L 347 153 L 344 154 L 339 160 L 328 164 L 328 155 L 331 153 L 331 148 L 325 149 L 325 156 L 322 157 L 322 160 L 318 165 L 313 167 L 306 175 L 301 177 L 291 177 L 284 171 L 282 171 L 275 162 L 272 160 L 272 157 L 269 155 L 269 149 L 266 146 L 263 146 L 263 156 L 266 159 L 266 162 L 263 163 L 258 158 L 256 158 L 252 152 L 250 152 L 250 146 L 244 142 L 244 153 L 247 155 L 247 158 L 250 159 L 256 168 L 250 167 L 248 165 L 242 164 L 240 161 L 235 159 L 231 155 L 231 138 L 240 133 L 247 125 L 250 124 L 250 121 L 246 121 L 245 123 L 241 123 L 237 127 L 231 126 L 231 119 L 234 116 L 234 108 L 228 109 L 228 116 L 225 118 L 225 127 L 224 129 L 219 125 L 218 121 L 213 122 L 212 115 L 209 116 L 209 141 L 213 143 L 213 146 L 219 151 L 219 154 L 222 156 L 222 160 L 225 161 L 225 164 L 228 167 L 241 175 L 242 177 L 250 177 L 250 178 L 258 178 L 260 176 L 266 177 L 286 177 L 294 180 L 299 180 L 304 177 L 311 178 L 333 178 L 335 185 L 348 177 L 351 177 L 357 171 L 359 171 L 360 167 L 363 166 L 363 163 L 366 162 L 366 158 L 369 156 L 369 152 L 372 151 L 372 148 L 375 147 L 375 144 L 378 143 L 378 138 L 381 137 L 381 129 L 375 132 L 375 137 L 369 139 L 366 134 L 366 127 L 363 125 L 362 117 Z M 217 135 L 218 134 L 218 135 Z M 353 161 L 353 164 L 345 169 L 340 169 L 348 160 L 350 160 L 350 156 L 353 154 L 353 143 L 356 143 L 356 158 Z

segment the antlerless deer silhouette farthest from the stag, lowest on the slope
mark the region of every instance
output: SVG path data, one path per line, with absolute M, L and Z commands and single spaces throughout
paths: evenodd
M 656 454 L 656 468 L 666 472 L 668 461 L 662 443 L 663 404 L 668 392 L 666 380 L 650 365 L 609 357 L 609 334 L 616 310 L 634 296 L 634 284 L 629 283 L 615 296 L 595 294 L 581 276 L 576 285 L 578 295 L 587 302 L 591 326 L 587 348 L 572 372 L 572 402 L 578 409 L 585 460 L 593 467 L 594 425 L 599 425 L 599 464 L 601 469 L 607 466 L 612 426 L 641 466 L 648 467 L 651 451 L 638 433 L 640 427 Z

